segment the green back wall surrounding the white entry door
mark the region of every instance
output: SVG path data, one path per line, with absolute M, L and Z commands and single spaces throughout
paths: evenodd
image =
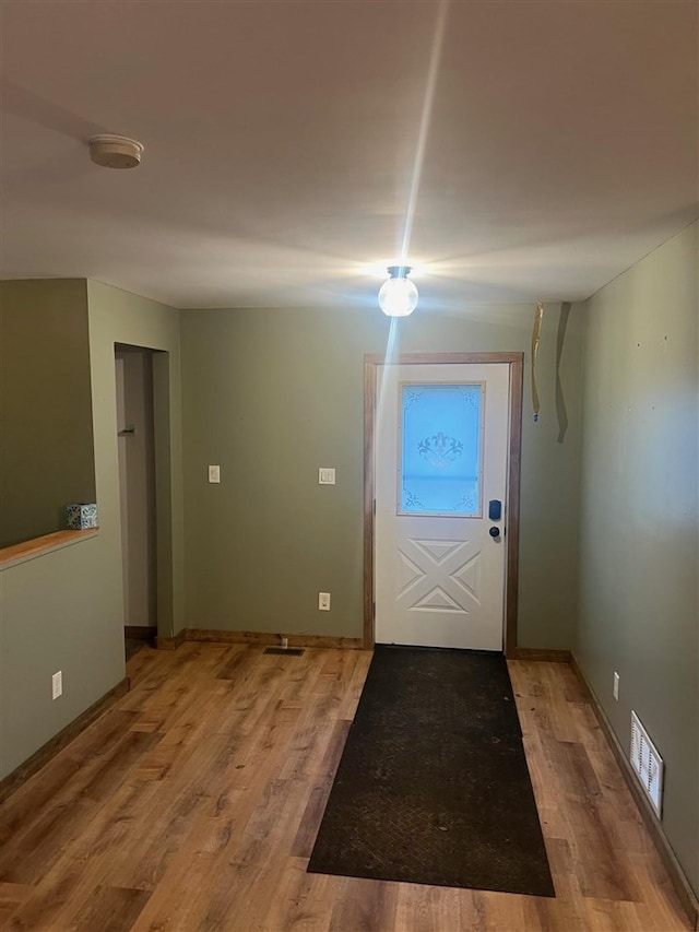
M 522 646 L 567 648 L 577 600 L 581 328 L 573 308 L 560 382 L 560 306 L 546 308 L 538 357 L 542 415 L 523 425 Z M 531 305 L 400 321 L 396 352 L 525 351 Z M 386 351 L 389 321 L 364 310 L 181 312 L 187 625 L 359 637 L 363 629 L 365 353 Z M 221 484 L 206 482 L 221 465 Z M 334 467 L 336 486 L 318 485 Z M 332 610 L 318 612 L 319 591 Z

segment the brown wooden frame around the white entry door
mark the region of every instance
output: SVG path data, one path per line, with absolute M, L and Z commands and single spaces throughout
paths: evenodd
M 453 365 L 506 363 L 510 367 L 508 489 L 505 566 L 505 637 L 506 657 L 517 648 L 517 606 L 520 536 L 520 469 L 522 460 L 522 378 L 524 353 L 403 353 L 387 359 L 378 353 L 364 356 L 364 647 L 375 645 L 375 497 L 376 476 L 374 445 L 376 439 L 377 370 L 379 366 Z

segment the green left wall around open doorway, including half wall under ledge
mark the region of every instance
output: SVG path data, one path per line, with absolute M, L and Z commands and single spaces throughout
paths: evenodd
M 63 283 L 51 284 L 62 294 Z M 178 312 L 118 288 L 88 282 L 90 347 L 74 364 L 90 365 L 99 532 L 0 571 L 0 777 L 114 687 L 125 675 L 123 590 L 115 343 L 150 346 L 156 382 L 161 457 L 158 623 L 162 634 L 183 624 L 182 495 Z M 31 347 L 24 358 L 32 359 Z M 83 403 L 91 401 L 91 382 Z M 51 675 L 63 695 L 51 699 Z

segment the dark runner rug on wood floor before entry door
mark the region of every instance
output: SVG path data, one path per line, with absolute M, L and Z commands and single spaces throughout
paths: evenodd
M 501 654 L 377 645 L 308 870 L 555 896 Z

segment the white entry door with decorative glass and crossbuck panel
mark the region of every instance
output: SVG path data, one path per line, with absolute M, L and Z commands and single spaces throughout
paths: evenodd
M 501 650 L 507 363 L 378 366 L 376 640 Z

